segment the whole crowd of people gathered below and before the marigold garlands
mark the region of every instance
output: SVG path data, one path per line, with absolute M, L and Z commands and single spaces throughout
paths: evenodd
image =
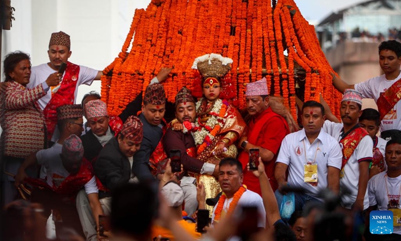
M 266 78 L 247 84 L 244 116 L 221 98 L 232 60 L 219 54 L 192 65 L 202 98 L 182 87 L 167 102 L 163 68 L 113 116 L 94 91 L 75 104 L 102 72 L 68 62 L 67 34 L 53 33 L 48 53 L 32 68 L 19 51 L 4 60 L 3 240 L 45 240 L 49 216 L 58 240 L 401 237 L 396 224 L 371 234 L 367 220 L 372 210 L 401 220 L 401 43 L 380 44 L 382 76 L 348 85 L 332 74 L 341 120 L 323 98 L 306 101 L 302 129 Z

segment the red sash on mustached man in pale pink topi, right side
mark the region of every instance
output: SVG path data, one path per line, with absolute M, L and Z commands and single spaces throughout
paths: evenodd
M 358 127 L 355 130 L 351 131 L 346 137 L 344 137 L 340 141 L 340 143 L 342 144 L 341 170 L 344 168 L 345 164 L 347 164 L 349 157 L 355 151 L 360 140 L 362 140 L 362 138 L 364 138 L 367 135 L 369 134 L 365 131 L 365 129 Z

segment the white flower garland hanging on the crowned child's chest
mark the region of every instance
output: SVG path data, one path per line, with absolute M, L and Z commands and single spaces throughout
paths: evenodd
M 199 101 L 196 102 L 195 107 L 198 109 L 200 107 L 200 104 L 202 103 L 204 98 L 201 98 Z M 224 119 L 219 115 L 220 110 L 223 106 L 223 100 L 222 99 L 216 99 L 215 104 L 213 105 L 212 110 L 210 111 L 211 113 L 214 113 L 215 115 L 211 115 L 211 117 L 208 119 L 206 122 L 206 126 L 211 128 L 212 130 L 215 128 L 216 125 L 220 124 L 219 120 L 224 122 Z M 195 127 L 200 127 L 199 122 L 195 123 Z M 209 136 L 210 140 L 213 141 L 215 138 L 210 134 L 210 132 L 205 128 L 202 127 L 202 129 L 196 131 L 193 133 L 193 140 L 195 141 L 196 145 L 202 145 L 205 141 L 205 138 Z

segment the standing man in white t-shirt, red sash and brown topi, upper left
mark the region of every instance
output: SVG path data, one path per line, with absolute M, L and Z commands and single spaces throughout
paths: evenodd
M 62 63 L 67 63 L 63 76 L 60 76 L 60 80 L 62 80 L 60 84 L 50 87 L 51 91 L 48 91 L 45 96 L 38 100 L 45 114 L 49 141 L 54 133 L 56 134 L 52 141 L 59 137 L 55 128 L 57 123 L 56 108 L 63 104 L 74 104 L 78 86 L 81 84 L 91 85 L 93 80 L 99 80 L 102 76 L 102 71 L 68 62 L 72 53 L 70 47 L 71 42 L 68 34 L 62 31 L 52 33 L 48 50 L 50 62 L 32 67 L 31 78 L 27 85 L 28 88 L 37 86 L 51 73 L 57 72 Z

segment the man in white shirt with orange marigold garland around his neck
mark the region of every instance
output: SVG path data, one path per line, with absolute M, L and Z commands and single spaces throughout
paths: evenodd
M 225 158 L 219 164 L 219 184 L 224 195 L 217 202 L 212 214 L 212 225 L 216 225 L 221 218 L 234 213 L 241 215 L 242 206 L 257 207 L 259 217 L 257 226 L 266 227 L 266 211 L 263 200 L 259 194 L 246 189 L 242 185 L 244 180 L 243 167 L 235 158 Z M 200 203 L 204 203 L 203 200 Z M 236 239 L 233 237 L 231 240 Z

